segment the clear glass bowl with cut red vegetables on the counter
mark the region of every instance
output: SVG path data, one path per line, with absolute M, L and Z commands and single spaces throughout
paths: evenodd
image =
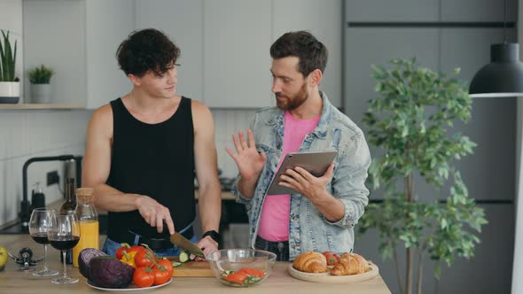
M 223 249 L 207 254 L 206 259 L 218 281 L 231 287 L 251 287 L 269 277 L 276 254 L 255 249 Z

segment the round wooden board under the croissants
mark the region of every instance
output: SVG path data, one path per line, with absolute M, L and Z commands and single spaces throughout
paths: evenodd
M 379 274 L 378 266 L 369 262 L 369 267 L 370 270 L 368 272 L 359 275 L 331 275 L 330 272 L 320 274 L 305 273 L 295 269 L 293 264 L 287 267 L 287 271 L 294 278 L 308 282 L 351 283 L 371 280 Z

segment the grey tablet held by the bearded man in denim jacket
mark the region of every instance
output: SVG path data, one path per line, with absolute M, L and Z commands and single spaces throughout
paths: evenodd
M 318 152 L 289 152 L 285 155 L 284 162 L 277 170 L 277 173 L 270 182 L 267 195 L 296 194 L 298 191 L 292 188 L 278 185 L 279 177 L 285 174 L 285 170 L 300 166 L 314 176 L 322 176 L 331 166 L 332 160 L 338 155 L 337 151 L 318 151 Z

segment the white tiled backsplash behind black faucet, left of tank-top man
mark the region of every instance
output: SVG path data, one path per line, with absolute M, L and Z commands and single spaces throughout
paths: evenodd
M 90 112 L 82 110 L 0 111 L 0 225 L 20 212 L 22 166 L 27 159 L 62 154 L 82 155 Z M 27 197 L 41 182 L 46 203 L 59 200 L 64 165 L 58 161 L 35 162 L 27 169 Z M 46 174 L 58 170 L 60 186 L 46 186 Z

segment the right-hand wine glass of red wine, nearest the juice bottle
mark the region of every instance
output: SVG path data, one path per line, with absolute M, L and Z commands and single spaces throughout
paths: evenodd
M 62 257 L 66 260 L 66 251 L 80 241 L 80 223 L 74 212 L 51 214 L 51 228 L 48 231 L 49 243 L 55 249 L 61 251 Z M 54 283 L 74 283 L 78 279 L 67 276 L 67 264 L 64 262 L 64 275 L 51 280 Z

